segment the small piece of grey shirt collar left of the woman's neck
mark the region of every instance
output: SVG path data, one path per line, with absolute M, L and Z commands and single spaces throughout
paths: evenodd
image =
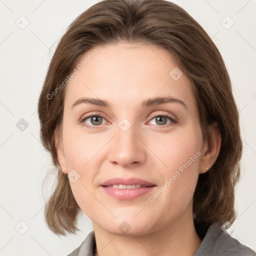
M 95 234 L 91 231 L 87 234 L 82 243 L 66 256 L 93 256 L 95 251 Z

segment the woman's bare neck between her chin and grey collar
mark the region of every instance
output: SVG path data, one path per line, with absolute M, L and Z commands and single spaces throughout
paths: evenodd
M 99 256 L 158 255 L 192 256 L 201 240 L 198 237 L 192 214 L 179 216 L 164 228 L 141 236 L 111 233 L 92 222 L 95 233 L 95 254 Z

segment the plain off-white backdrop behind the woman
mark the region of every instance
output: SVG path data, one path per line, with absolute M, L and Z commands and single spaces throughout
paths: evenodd
M 37 100 L 59 38 L 73 19 L 96 2 L 0 1 L 1 256 L 64 256 L 92 230 L 91 221 L 84 214 L 78 222 L 81 231 L 76 235 L 58 237 L 45 224 L 42 181 L 52 165 L 39 141 Z M 202 25 L 220 50 L 229 72 L 244 146 L 241 179 L 235 194 L 238 217 L 232 236 L 256 250 L 256 1 L 173 2 Z M 53 182 L 54 175 L 46 185 L 46 195 Z

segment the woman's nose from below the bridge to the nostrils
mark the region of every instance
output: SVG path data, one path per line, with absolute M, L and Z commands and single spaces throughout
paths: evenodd
M 109 147 L 108 159 L 113 164 L 123 167 L 131 167 L 142 164 L 146 159 L 146 145 L 143 143 L 143 135 L 131 125 L 126 131 L 116 127 L 116 135 Z

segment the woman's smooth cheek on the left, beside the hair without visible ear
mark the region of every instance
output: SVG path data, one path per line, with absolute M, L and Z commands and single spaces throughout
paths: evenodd
M 75 182 L 69 180 L 69 184 L 80 209 L 93 216 L 95 197 L 91 187 L 96 170 L 99 169 L 98 151 L 102 147 L 104 138 L 99 139 L 96 133 L 85 135 L 81 130 L 75 130 L 68 125 L 65 128 L 63 129 L 63 147 L 66 168 L 68 172 L 74 169 L 78 173 L 75 176 Z

